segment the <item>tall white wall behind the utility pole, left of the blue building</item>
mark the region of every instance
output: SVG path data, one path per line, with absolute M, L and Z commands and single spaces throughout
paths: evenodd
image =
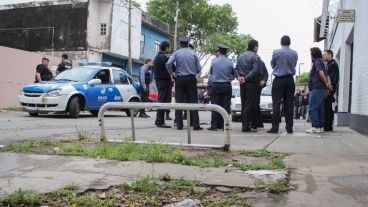
M 111 52 L 128 56 L 128 5 L 125 0 L 114 0 Z M 132 9 L 132 58 L 140 57 L 142 11 L 138 8 Z

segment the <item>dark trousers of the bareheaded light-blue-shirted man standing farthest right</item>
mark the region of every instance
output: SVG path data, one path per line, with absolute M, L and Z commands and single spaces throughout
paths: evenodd
M 276 77 L 272 84 L 272 130 L 278 131 L 281 119 L 281 103 L 284 102 L 286 129 L 293 130 L 295 82 L 293 76 Z

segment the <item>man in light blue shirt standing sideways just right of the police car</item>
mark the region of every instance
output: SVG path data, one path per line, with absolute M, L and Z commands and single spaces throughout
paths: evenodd
M 144 64 L 141 67 L 140 70 L 140 77 L 139 77 L 139 82 L 141 85 L 141 101 L 142 102 L 148 102 L 148 97 L 149 97 L 149 84 L 151 82 L 151 73 L 150 73 L 150 68 L 153 66 L 153 61 L 151 59 L 147 59 L 146 64 Z M 139 117 L 141 118 L 148 118 L 150 116 L 148 116 L 145 112 L 145 109 L 141 109 L 140 110 L 140 114 Z

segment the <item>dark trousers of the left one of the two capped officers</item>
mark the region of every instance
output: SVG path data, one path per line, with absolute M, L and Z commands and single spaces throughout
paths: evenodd
M 176 103 L 198 103 L 197 78 L 193 75 L 179 76 L 175 84 Z M 191 125 L 194 128 L 199 127 L 199 115 L 197 111 L 190 112 Z M 175 111 L 176 127 L 183 128 L 183 112 Z M 188 126 L 190 127 L 190 126 Z

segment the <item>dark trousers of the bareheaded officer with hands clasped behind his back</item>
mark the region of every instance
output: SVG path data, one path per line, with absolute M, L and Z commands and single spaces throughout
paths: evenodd
M 257 83 L 248 82 L 240 86 L 243 130 L 249 130 L 251 121 L 257 115 L 257 95 Z

